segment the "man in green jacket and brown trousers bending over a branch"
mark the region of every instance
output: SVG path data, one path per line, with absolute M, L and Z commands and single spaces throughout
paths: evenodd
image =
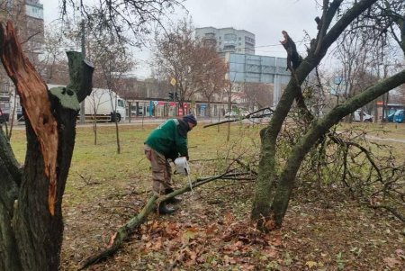
M 145 141 L 145 155 L 152 167 L 152 190 L 154 194 L 169 194 L 174 191 L 172 186 L 172 168 L 169 159 L 186 157 L 188 160 L 187 132 L 197 125 L 193 114 L 181 119 L 170 119 L 151 131 Z M 168 203 L 178 203 L 181 199 L 172 198 Z M 158 212 L 167 214 L 175 212 L 167 207 L 166 202 L 158 206 Z

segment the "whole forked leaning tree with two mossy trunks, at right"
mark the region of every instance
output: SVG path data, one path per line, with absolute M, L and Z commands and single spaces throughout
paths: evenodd
M 329 128 L 347 114 L 355 112 L 357 108 L 396 86 L 401 86 L 405 82 L 405 70 L 366 88 L 344 104 L 338 104 L 330 113 L 317 121 L 311 118 L 309 111 L 304 108 L 305 103 L 302 103 L 302 82 L 320 64 L 338 37 L 343 32 L 350 31 L 350 25 L 354 28 L 364 27 L 369 32 L 373 30 L 375 35 L 392 33 L 405 52 L 403 11 L 403 1 L 361 0 L 347 3 L 343 0 L 323 0 L 323 13 L 321 18 L 316 20 L 319 29 L 317 38 L 311 41 L 308 55 L 302 59 L 301 64 L 292 68 L 292 79 L 276 106 L 274 116 L 268 126 L 260 132 L 261 158 L 251 212 L 251 219 L 257 223 L 258 229 L 273 230 L 282 225 L 302 161 L 311 148 L 329 131 Z M 399 32 L 401 36 L 397 35 Z M 287 50 L 289 54 L 292 53 L 291 49 Z M 285 164 L 281 166 L 277 164 L 276 141 L 294 101 L 297 101 L 297 105 L 303 109 L 301 112 L 305 114 L 302 118 L 310 125 L 306 133 L 293 146 Z

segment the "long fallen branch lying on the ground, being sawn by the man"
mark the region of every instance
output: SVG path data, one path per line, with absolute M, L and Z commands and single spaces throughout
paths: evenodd
M 211 181 L 222 179 L 223 177 L 229 176 L 228 172 L 225 172 L 221 175 L 217 176 L 208 176 L 204 178 L 197 178 L 193 183 L 192 187 L 198 187 L 204 184 L 207 184 Z M 120 229 L 118 229 L 113 235 L 110 240 L 110 244 L 108 245 L 107 248 L 95 253 L 94 255 L 85 258 L 85 260 L 82 263 L 82 266 L 78 270 L 83 270 L 88 266 L 91 266 L 106 257 L 112 256 L 119 248 L 121 248 L 121 245 L 123 242 L 130 237 L 130 234 L 133 233 L 135 230 L 138 229 L 138 227 L 146 221 L 148 215 L 150 212 L 153 212 L 156 209 L 156 205 L 158 203 L 164 202 L 168 199 L 171 199 L 175 197 L 176 195 L 179 194 L 184 194 L 185 192 L 191 191 L 190 185 L 184 186 L 180 189 L 175 190 L 174 192 L 170 194 L 165 194 L 161 196 L 153 195 L 152 197 L 149 198 L 148 203 L 140 210 L 140 212 L 133 218 L 130 219 L 130 221 L 126 222 L 123 226 L 121 226 Z

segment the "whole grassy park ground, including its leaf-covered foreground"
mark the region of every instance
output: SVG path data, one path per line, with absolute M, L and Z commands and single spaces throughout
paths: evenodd
M 360 124 L 370 131 L 378 124 Z M 121 154 L 115 130 L 78 127 L 76 147 L 63 202 L 65 234 L 60 270 L 76 270 L 80 261 L 105 248 L 118 227 L 139 212 L 150 195 L 149 165 L 143 141 L 154 125 L 120 126 Z M 385 125 L 376 136 L 405 140 L 405 124 Z M 220 172 L 225 160 L 259 147 L 259 127 L 227 125 L 189 133 L 195 176 Z M 253 138 L 253 139 L 252 139 Z M 391 144 L 391 143 L 390 143 Z M 405 143 L 394 142 L 402 156 Z M 23 162 L 24 131 L 12 138 Z M 175 176 L 175 185 L 186 185 Z M 169 216 L 149 216 L 121 250 L 89 270 L 404 270 L 405 225 L 385 212 L 374 212 L 338 191 L 318 201 L 296 196 L 284 228 L 269 234 L 249 223 L 253 183 L 219 181 L 184 194 Z M 333 194 L 333 196 L 332 196 Z

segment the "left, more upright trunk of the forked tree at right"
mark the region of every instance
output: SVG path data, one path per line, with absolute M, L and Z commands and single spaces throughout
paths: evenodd
M 329 1 L 326 1 L 329 2 Z M 352 6 L 345 14 L 343 14 L 337 23 L 330 28 L 335 14 L 338 11 L 342 0 L 334 0 L 329 6 L 324 6 L 324 18 L 322 18 L 322 28 L 317 37 L 317 40 L 311 42 L 311 49 L 308 56 L 302 60 L 301 65 L 295 70 L 296 77 L 292 78 L 286 87 L 279 103 L 276 106 L 275 113 L 269 125 L 260 132 L 262 141 L 261 156 L 259 162 L 259 176 L 257 178 L 257 185 L 255 188 L 255 196 L 253 199 L 253 206 L 251 212 L 251 220 L 257 223 L 259 230 L 267 231 L 272 230 L 276 226 L 280 226 L 279 219 L 275 221 L 275 213 L 282 212 L 286 209 L 290 195 L 293 189 L 291 183 L 283 184 L 277 188 L 275 193 L 275 182 L 277 180 L 276 173 L 276 140 L 279 132 L 281 131 L 285 117 L 289 113 L 294 99 L 300 95 L 300 87 L 303 80 L 310 74 L 311 70 L 319 65 L 320 60 L 323 59 L 331 44 L 338 39 L 338 36 L 353 22 L 356 17 L 365 12 L 367 8 L 373 5 L 376 0 L 363 0 L 359 1 Z M 298 82 L 297 82 L 298 81 Z M 298 85 L 298 86 L 297 86 Z M 288 170 L 287 168 L 284 168 Z M 287 201 L 279 203 L 281 198 Z M 274 201 L 276 203 L 274 203 Z M 274 210 L 274 208 L 282 208 Z

